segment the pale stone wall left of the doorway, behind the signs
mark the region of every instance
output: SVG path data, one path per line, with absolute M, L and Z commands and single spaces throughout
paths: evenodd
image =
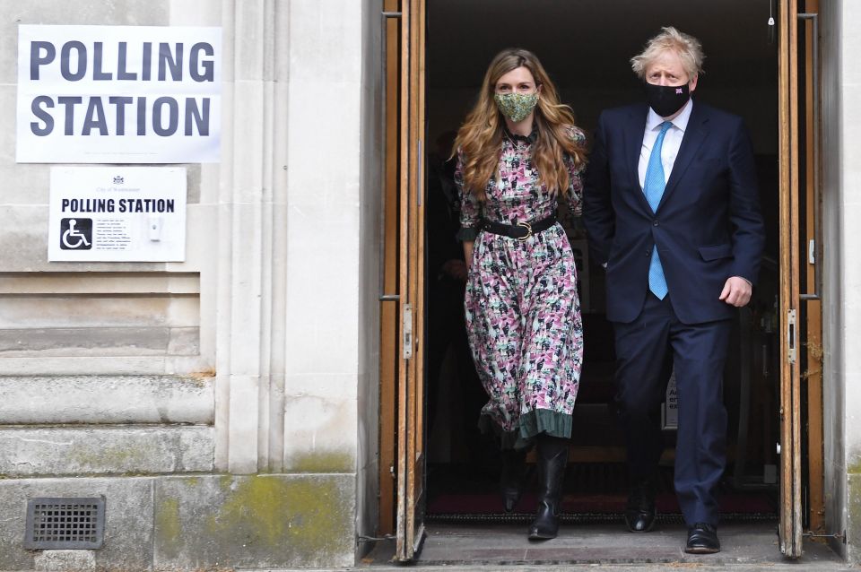
M 378 11 L 0 4 L 0 569 L 353 564 L 376 520 Z M 186 262 L 48 263 L 49 166 L 14 162 L 19 23 L 222 27 Z M 22 548 L 28 498 L 98 495 L 102 549 Z

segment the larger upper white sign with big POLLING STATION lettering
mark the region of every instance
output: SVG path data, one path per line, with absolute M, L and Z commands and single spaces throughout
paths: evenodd
M 18 27 L 16 159 L 217 162 L 220 28 Z

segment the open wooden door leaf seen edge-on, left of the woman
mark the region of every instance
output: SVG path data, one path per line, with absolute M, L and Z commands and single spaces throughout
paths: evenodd
M 396 558 L 424 537 L 424 32 L 425 0 L 401 0 Z

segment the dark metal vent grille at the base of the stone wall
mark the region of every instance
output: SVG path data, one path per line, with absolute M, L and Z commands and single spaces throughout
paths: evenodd
M 87 550 L 105 540 L 105 498 L 30 498 L 24 548 Z

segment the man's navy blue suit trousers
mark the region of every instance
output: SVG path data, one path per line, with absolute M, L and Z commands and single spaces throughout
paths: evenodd
M 640 315 L 613 324 L 616 339 L 616 400 L 628 446 L 632 481 L 652 478 L 662 446 L 660 406 L 675 371 L 678 429 L 675 493 L 687 524 L 718 524 L 718 481 L 726 465 L 723 377 L 731 320 L 683 324 L 672 292 L 651 292 Z

